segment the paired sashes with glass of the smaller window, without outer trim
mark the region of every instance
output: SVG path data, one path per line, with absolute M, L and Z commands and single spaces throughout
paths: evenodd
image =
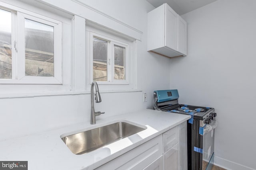
M 92 35 L 93 81 L 115 82 L 126 80 L 126 49 L 128 44 Z M 106 37 L 107 38 L 107 37 Z

